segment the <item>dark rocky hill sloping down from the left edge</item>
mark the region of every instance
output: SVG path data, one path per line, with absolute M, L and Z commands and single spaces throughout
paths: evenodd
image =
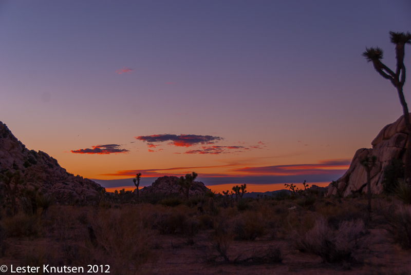
M 20 191 L 38 189 L 52 194 L 57 201 L 94 197 L 101 186 L 94 181 L 74 176 L 45 152 L 29 150 L 0 122 L 0 173 L 22 171 L 25 183 Z

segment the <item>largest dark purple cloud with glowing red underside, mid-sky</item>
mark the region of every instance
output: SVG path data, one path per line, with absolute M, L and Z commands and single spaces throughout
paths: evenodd
M 189 147 L 197 144 L 214 144 L 223 140 L 219 136 L 212 135 L 196 135 L 196 134 L 153 134 L 141 135 L 135 137 L 137 140 L 147 142 L 148 144 L 169 142 L 168 144 L 177 147 Z

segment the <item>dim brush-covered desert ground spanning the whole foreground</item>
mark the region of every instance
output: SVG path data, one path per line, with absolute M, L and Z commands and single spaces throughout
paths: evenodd
M 411 272 L 411 206 L 392 195 L 373 195 L 370 215 L 365 195 L 235 200 L 210 193 L 139 202 L 118 194 L 94 205 L 52 203 L 9 216 L 2 209 L 0 261 L 8 267 L 109 265 L 111 274 Z

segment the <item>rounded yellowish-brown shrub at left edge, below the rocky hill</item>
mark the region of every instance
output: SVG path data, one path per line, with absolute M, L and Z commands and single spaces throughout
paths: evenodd
M 7 237 L 38 237 L 41 234 L 39 219 L 36 215 L 18 213 L 14 217 L 4 218 L 2 226 Z

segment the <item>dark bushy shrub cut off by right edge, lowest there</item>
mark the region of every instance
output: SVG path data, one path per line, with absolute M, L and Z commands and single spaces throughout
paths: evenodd
M 401 205 L 398 209 L 387 209 L 384 216 L 386 229 L 403 248 L 411 248 L 411 206 Z

